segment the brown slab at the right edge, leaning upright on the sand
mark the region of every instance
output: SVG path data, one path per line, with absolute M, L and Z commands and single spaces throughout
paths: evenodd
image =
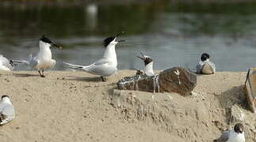
M 256 96 L 256 68 L 250 68 L 247 72 L 245 83 L 246 99 L 250 110 L 255 113 Z

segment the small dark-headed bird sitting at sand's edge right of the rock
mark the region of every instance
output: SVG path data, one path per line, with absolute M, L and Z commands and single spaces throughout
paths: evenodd
M 207 53 L 201 55 L 201 61 L 197 65 L 197 73 L 213 74 L 216 72 L 215 64 L 210 62 L 209 58 L 210 55 Z

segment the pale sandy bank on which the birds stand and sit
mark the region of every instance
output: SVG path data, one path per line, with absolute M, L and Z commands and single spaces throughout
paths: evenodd
M 246 141 L 255 140 L 255 114 L 246 110 L 246 73 L 197 77 L 192 95 L 117 90 L 135 74 L 119 70 L 101 82 L 84 72 L 0 72 L 16 118 L 0 127 L 1 141 L 212 141 L 233 127 L 230 110 L 244 114 Z

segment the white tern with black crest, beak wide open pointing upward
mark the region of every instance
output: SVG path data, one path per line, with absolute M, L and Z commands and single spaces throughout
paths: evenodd
M 123 42 L 124 40 L 117 40 L 117 37 L 124 32 L 120 32 L 117 36 L 110 36 L 104 40 L 104 47 L 106 47 L 103 57 L 97 62 L 91 65 L 74 65 L 67 62 L 63 62 L 65 67 L 71 69 L 80 69 L 86 71 L 87 73 L 92 73 L 94 75 L 101 76 L 101 80 L 105 81 L 105 77 L 111 76 L 117 71 L 117 53 L 116 45 L 117 43 Z

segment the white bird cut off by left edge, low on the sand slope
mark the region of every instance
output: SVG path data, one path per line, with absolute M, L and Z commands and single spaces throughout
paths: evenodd
M 2 95 L 0 101 L 0 125 L 5 125 L 15 118 L 14 107 L 8 95 Z

